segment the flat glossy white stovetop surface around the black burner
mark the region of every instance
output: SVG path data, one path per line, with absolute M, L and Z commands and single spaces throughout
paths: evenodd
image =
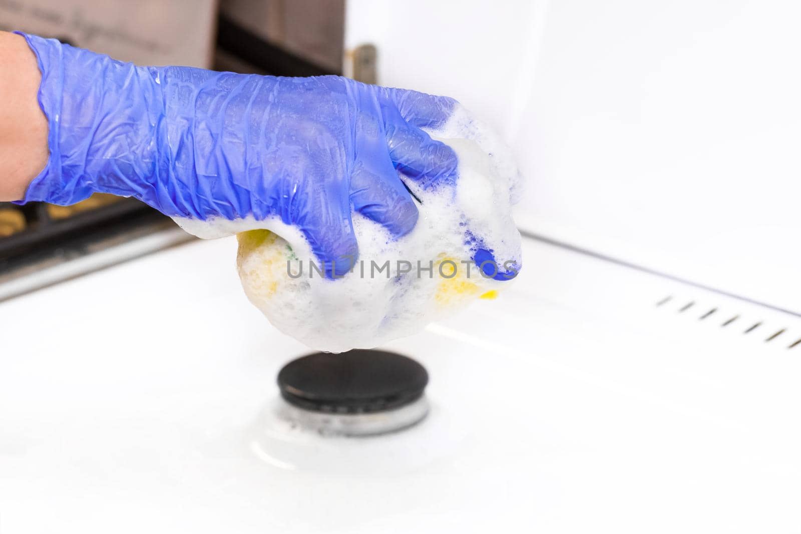
M 267 434 L 309 351 L 248 303 L 233 239 L 0 303 L 0 532 L 799 532 L 801 319 L 524 255 L 388 345 L 432 412 L 372 438 Z

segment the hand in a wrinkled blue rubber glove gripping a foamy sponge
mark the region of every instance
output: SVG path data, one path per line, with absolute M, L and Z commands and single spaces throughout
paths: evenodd
M 347 78 L 276 78 L 135 66 L 22 34 L 38 58 L 50 159 L 23 201 L 133 196 L 204 238 L 276 222 L 344 275 L 352 210 L 395 237 L 417 222 L 399 172 L 453 184 L 457 157 L 421 128 L 455 101 Z

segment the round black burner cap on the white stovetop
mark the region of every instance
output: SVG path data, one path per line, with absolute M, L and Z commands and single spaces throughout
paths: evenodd
M 429 373 L 420 363 L 387 351 L 316 352 L 284 365 L 281 396 L 313 412 L 382 412 L 411 404 L 423 395 Z

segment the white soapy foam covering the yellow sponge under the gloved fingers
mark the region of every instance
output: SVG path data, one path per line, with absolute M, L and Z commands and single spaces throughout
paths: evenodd
M 503 144 L 461 108 L 429 135 L 457 153 L 455 191 L 424 191 L 406 179 L 422 201 L 420 218 L 413 231 L 396 240 L 354 213 L 359 259 L 342 279 L 325 279 L 312 270 L 309 260 L 320 263 L 304 236 L 280 219 L 176 222 L 203 238 L 239 234 L 237 268 L 244 291 L 280 331 L 321 351 L 376 347 L 508 287 L 511 282 L 485 278 L 474 265 L 468 275 L 462 262 L 473 258 L 477 246 L 492 249 L 501 268 L 507 261 L 521 264 L 520 234 L 511 217 L 519 179 Z M 386 262 L 388 276 L 376 269 Z M 410 272 L 400 272 L 409 268 L 403 262 L 411 263 Z M 418 262 L 433 272 L 418 270 Z M 302 275 L 293 278 L 288 270 Z

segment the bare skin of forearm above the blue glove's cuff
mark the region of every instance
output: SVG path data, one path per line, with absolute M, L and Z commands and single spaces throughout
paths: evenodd
M 0 201 L 21 200 L 47 163 L 42 75 L 22 35 L 0 31 Z

